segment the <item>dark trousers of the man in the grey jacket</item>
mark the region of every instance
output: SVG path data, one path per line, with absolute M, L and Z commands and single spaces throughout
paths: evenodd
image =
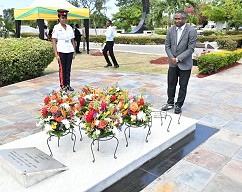
M 168 101 L 169 104 L 174 104 L 176 85 L 179 79 L 179 93 L 177 102 L 175 103 L 181 107 L 185 101 L 187 94 L 187 85 L 191 75 L 191 70 L 180 70 L 179 67 L 169 67 L 168 70 Z

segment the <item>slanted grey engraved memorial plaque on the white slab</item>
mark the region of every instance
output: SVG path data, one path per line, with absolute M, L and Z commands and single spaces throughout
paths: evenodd
M 67 169 L 67 166 L 35 147 L 0 150 L 0 163 L 25 187 Z

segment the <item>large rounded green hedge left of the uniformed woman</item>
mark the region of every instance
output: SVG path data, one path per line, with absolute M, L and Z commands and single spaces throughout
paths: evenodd
M 52 44 L 37 38 L 0 39 L 0 83 L 15 83 L 42 75 L 53 61 Z

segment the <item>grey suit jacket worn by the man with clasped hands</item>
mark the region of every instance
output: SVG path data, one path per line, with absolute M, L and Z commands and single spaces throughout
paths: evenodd
M 166 34 L 165 50 L 169 58 L 178 58 L 178 67 L 181 70 L 192 68 L 192 53 L 194 52 L 197 42 L 197 30 L 186 24 L 177 45 L 176 26 L 168 29 Z M 169 67 L 175 67 L 169 61 Z

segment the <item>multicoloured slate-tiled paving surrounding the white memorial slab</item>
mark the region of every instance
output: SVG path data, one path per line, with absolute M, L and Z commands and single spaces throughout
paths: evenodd
M 242 65 L 206 78 L 191 77 L 183 115 L 220 129 L 143 191 L 242 191 Z M 166 75 L 74 71 L 72 86 L 101 88 L 118 82 L 144 92 L 154 108 L 166 103 Z M 0 144 L 39 132 L 38 109 L 57 89 L 58 74 L 0 88 Z

